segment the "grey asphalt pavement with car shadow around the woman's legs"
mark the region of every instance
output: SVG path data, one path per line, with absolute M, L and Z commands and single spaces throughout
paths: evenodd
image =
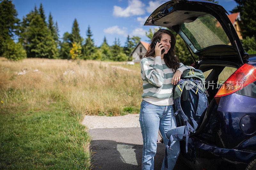
M 140 128 L 90 129 L 89 134 L 92 137 L 90 148 L 94 152 L 94 170 L 141 169 L 143 142 Z M 158 142 L 154 161 L 156 170 L 161 169 L 164 149 L 164 144 Z M 189 168 L 178 159 L 174 170 L 187 169 Z

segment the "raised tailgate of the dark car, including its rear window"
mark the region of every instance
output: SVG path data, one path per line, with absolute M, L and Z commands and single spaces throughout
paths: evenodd
M 164 26 L 180 35 L 200 60 L 248 59 L 235 28 L 220 6 L 203 0 L 173 0 L 159 6 L 144 25 Z

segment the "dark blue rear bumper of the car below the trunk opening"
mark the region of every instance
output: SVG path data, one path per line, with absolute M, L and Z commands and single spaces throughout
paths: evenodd
M 256 158 L 256 153 L 245 152 L 234 149 L 224 149 L 203 143 L 196 137 L 189 138 L 188 153 L 186 153 L 185 144 L 182 144 L 180 150 L 180 159 L 192 169 L 245 169 L 248 164 Z

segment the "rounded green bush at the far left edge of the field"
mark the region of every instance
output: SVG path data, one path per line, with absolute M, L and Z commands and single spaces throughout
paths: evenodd
M 21 43 L 15 43 L 13 40 L 3 41 L 3 56 L 9 60 L 22 60 L 27 57 L 25 49 Z

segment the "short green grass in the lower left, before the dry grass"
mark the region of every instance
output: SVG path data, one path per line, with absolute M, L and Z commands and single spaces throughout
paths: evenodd
M 61 103 L 0 114 L 0 169 L 90 169 L 89 137 Z

